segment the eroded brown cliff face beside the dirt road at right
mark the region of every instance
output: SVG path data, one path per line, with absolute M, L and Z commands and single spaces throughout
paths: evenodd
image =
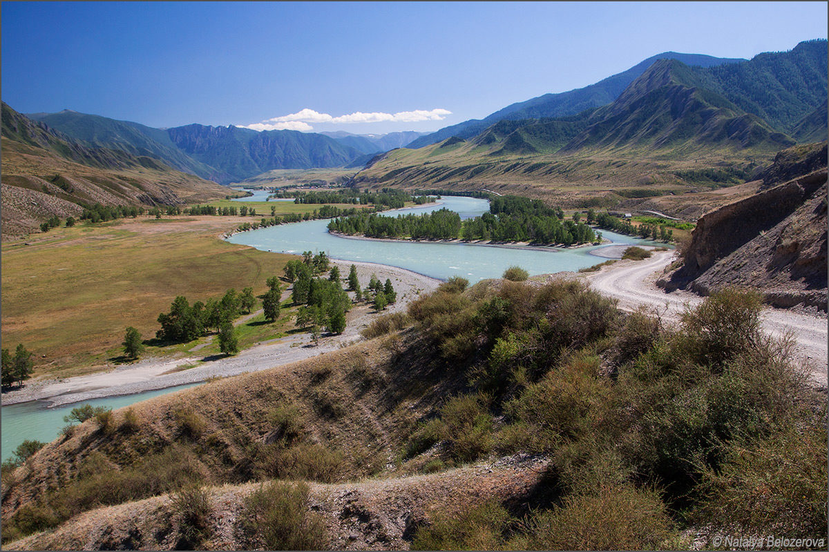
M 725 205 L 697 221 L 684 264 L 659 285 L 690 289 L 701 295 L 729 286 L 760 291 L 771 305 L 807 305 L 827 310 L 827 169 L 773 185 L 768 190 Z M 790 155 L 788 156 L 790 157 Z M 795 168 L 778 156 L 765 171 L 775 176 L 812 169 L 821 160 L 809 156 Z M 770 184 L 770 183 L 769 183 Z

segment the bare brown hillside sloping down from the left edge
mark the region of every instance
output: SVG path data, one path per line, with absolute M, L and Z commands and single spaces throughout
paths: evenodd
M 90 148 L 2 105 L 2 238 L 36 231 L 85 205 L 176 205 L 224 198 L 227 189 L 124 151 Z

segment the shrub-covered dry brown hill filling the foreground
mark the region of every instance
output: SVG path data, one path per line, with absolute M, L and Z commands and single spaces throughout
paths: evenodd
M 67 431 L 3 473 L 3 548 L 826 537 L 825 397 L 753 295 L 668 329 L 573 281 L 452 280 L 366 337 Z

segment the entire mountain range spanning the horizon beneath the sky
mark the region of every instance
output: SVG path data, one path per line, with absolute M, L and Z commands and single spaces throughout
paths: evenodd
M 665 52 L 582 89 L 513 103 L 428 135 L 256 132 L 201 124 L 161 129 L 64 110 L 30 114 L 32 123 L 23 127 L 31 132 L 22 136 L 5 124 L 4 106 L 3 136 L 85 166 L 123 170 L 140 165 L 137 159 L 152 159 L 163 170 L 221 184 L 269 170 L 367 166 L 356 181 L 432 186 L 474 176 L 506 179 L 516 170 L 519 180 L 536 179 L 540 171 L 555 180 L 560 171 L 542 167 L 550 161 L 545 156 L 677 158 L 742 151 L 764 157 L 749 160 L 756 166 L 793 143 L 825 139 L 826 102 L 827 41 L 817 40 L 752 60 Z M 535 163 L 505 165 L 539 156 Z

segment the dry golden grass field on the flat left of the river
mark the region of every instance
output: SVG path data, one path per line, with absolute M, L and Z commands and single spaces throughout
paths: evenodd
M 3 243 L 3 347 L 23 343 L 36 355 L 36 374 L 95 372 L 119 355 L 127 326 L 153 338 L 158 314 L 177 295 L 203 301 L 246 286 L 264 293 L 265 279 L 281 276 L 291 257 L 219 239 L 252 220 L 138 217 Z

